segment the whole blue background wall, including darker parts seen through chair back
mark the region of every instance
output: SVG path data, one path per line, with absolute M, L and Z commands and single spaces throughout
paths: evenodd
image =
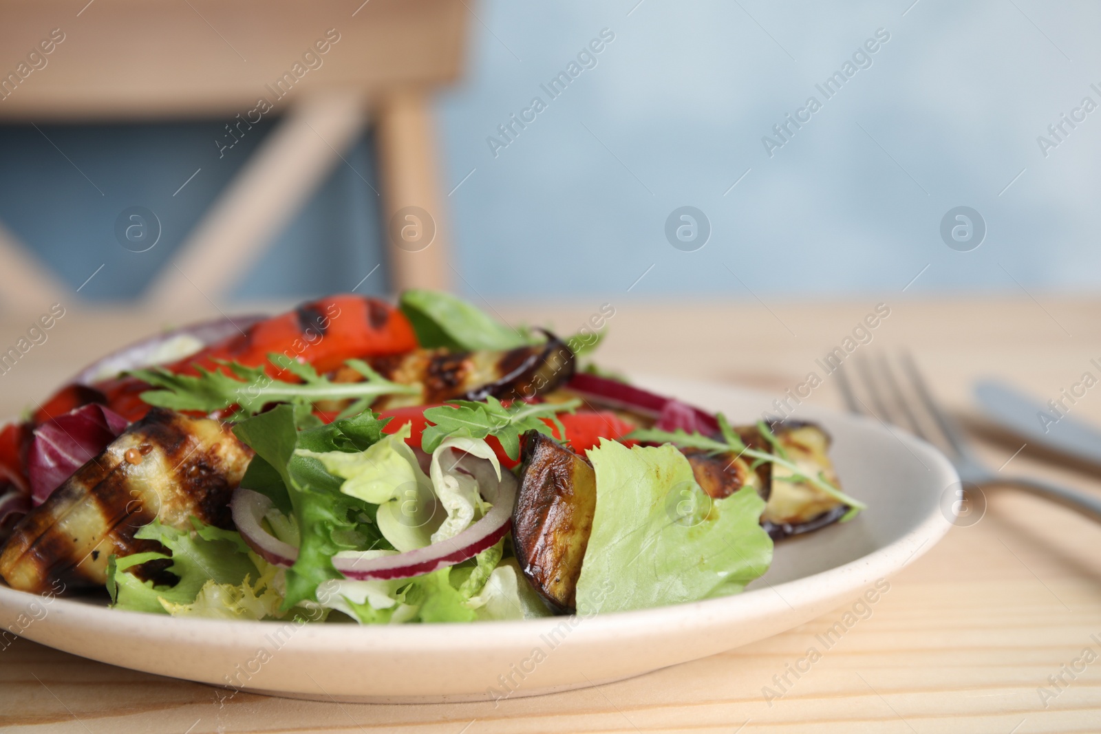
M 635 283 L 643 297 L 844 296 L 912 281 L 909 293 L 1101 285 L 1101 110 L 1046 156 L 1036 140 L 1083 97 L 1101 103 L 1090 86 L 1101 88 L 1095 3 L 470 7 L 467 78 L 439 96 L 438 121 L 444 188 L 458 186 L 446 199 L 455 264 L 487 297 L 610 296 Z M 614 40 L 552 99 L 541 85 L 603 29 Z M 815 85 L 877 29 L 890 40 L 871 66 L 826 100 Z M 821 109 L 770 155 L 762 136 L 775 138 L 773 125 L 811 95 Z M 509 142 L 498 125 L 536 96 L 546 109 Z M 42 125 L 95 187 L 39 131 L 4 127 L 0 219 L 74 288 L 115 263 L 81 296 L 133 297 L 265 132 L 218 160 L 210 140 L 222 122 Z M 494 152 L 491 135 L 508 146 Z M 379 262 L 369 139 L 347 157 L 242 281 L 241 298 L 348 289 L 359 276 L 347 273 Z M 143 258 L 112 232 L 135 204 L 164 220 L 162 243 Z M 695 252 L 665 235 L 686 205 L 711 228 Z M 988 228 L 970 252 L 939 233 L 960 205 Z M 361 289 L 384 286 L 372 277 Z

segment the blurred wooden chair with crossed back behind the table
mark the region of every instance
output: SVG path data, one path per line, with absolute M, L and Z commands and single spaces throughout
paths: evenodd
M 394 289 L 447 288 L 429 95 L 459 75 L 462 0 L 80 6 L 21 0 L 0 9 L 0 47 L 9 52 L 35 50 L 53 29 L 65 35 L 45 68 L 8 78 L 7 86 L 0 79 L 0 119 L 224 116 L 229 130 L 247 124 L 261 98 L 273 106 L 268 113 L 282 117 L 146 291 L 150 307 L 186 308 L 225 296 L 368 123 L 375 125 L 390 282 Z M 323 54 L 314 44 L 326 32 L 339 41 Z M 0 297 L 18 303 L 28 293 L 41 298 L 59 289 L 0 228 Z

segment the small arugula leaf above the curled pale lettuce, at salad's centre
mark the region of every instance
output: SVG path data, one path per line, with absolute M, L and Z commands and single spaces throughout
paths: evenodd
M 516 401 L 510 407 L 501 405 L 501 401 L 492 395 L 484 403 L 473 401 L 451 401 L 438 408 L 428 408 L 424 417 L 436 424 L 426 426 L 421 437 L 421 448 L 425 453 L 432 453 L 445 438 L 450 436 L 468 436 L 470 438 L 487 438 L 497 436 L 501 447 L 510 459 L 520 458 L 520 436 L 528 430 L 553 437 L 550 426 L 543 421 L 549 419 L 558 429 L 562 440 L 566 440 L 566 428 L 558 420 L 559 413 L 573 413 L 581 401 L 568 403 L 524 403 Z

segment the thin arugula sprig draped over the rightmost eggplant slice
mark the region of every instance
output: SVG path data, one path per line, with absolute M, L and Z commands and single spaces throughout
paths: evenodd
M 868 505 L 860 500 L 850 497 L 840 489 L 833 486 L 833 484 L 826 480 L 825 474 L 821 472 L 819 472 L 817 476 L 809 476 L 805 474 L 803 470 L 791 460 L 787 456 L 787 451 L 780 442 L 780 439 L 776 438 L 776 435 L 772 432 L 772 429 L 768 428 L 768 425 L 765 421 L 759 420 L 756 428 L 768 445 L 773 447 L 775 452 L 751 449 L 745 446 L 745 442 L 742 441 L 738 434 L 730 427 L 730 423 L 727 420 L 724 415 L 719 413 L 716 416 L 716 419 L 719 421 L 719 430 L 722 434 L 723 440 L 721 441 L 698 432 L 688 434 L 684 428 L 677 428 L 672 432 L 667 430 L 657 430 L 656 428 L 639 428 L 631 431 L 623 438 L 634 439 L 642 443 L 673 443 L 675 446 L 683 446 L 686 448 L 702 449 L 704 451 L 709 451 L 711 453 L 737 453 L 739 457 L 744 456 L 755 459 L 756 461 L 753 464 L 754 468 L 764 461 L 774 463 L 777 467 L 783 467 L 792 472 L 792 475 L 786 478 L 788 481 L 806 482 L 807 484 L 821 490 L 838 502 L 843 502 L 849 505 L 851 510 L 846 513 L 844 517 L 841 518 L 842 523 L 855 517 L 861 510 L 868 508 Z

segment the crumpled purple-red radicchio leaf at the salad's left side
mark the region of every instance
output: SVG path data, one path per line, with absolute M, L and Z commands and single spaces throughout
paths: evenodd
M 84 405 L 34 429 L 26 474 L 35 506 L 73 473 L 99 456 L 127 429 L 127 419 L 98 404 Z

